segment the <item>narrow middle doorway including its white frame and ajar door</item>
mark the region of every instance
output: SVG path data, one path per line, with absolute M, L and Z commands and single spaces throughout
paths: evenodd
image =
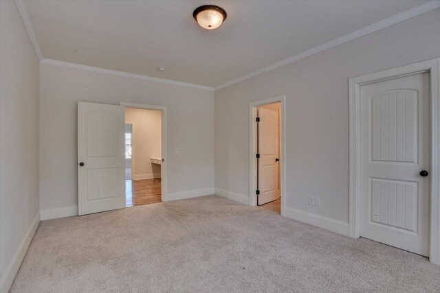
M 250 104 L 251 204 L 284 214 L 284 96 Z

